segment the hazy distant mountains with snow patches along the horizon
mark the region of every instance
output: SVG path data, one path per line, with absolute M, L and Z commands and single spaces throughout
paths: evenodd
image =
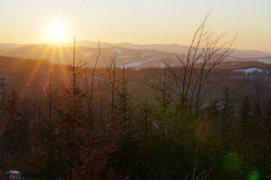
M 189 46 L 178 44 L 148 44 L 137 45 L 132 43 L 100 43 L 101 56 L 98 66 L 106 66 L 110 58 L 116 56 L 119 67 L 162 67 L 162 60 L 169 60 L 173 65 L 178 63 L 177 55 L 188 52 Z M 44 44 L 15 44 L 0 43 L 0 55 L 15 58 L 45 59 L 52 62 L 71 63 L 73 47 L 71 43 L 59 46 Z M 98 55 L 98 43 L 91 41 L 76 42 L 76 61 L 83 61 L 93 65 Z M 235 50 L 225 61 L 258 61 L 271 64 L 271 53 L 262 51 Z

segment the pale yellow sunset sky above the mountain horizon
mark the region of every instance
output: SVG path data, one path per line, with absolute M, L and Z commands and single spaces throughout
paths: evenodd
M 67 42 L 189 45 L 209 11 L 234 48 L 271 52 L 270 0 L 0 0 L 0 43 L 49 43 L 57 22 Z

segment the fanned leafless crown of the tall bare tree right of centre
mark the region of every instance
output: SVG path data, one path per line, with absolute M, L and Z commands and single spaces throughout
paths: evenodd
M 169 72 L 169 78 L 174 83 L 173 98 L 178 98 L 180 109 L 188 108 L 190 115 L 196 122 L 203 113 L 203 102 L 212 89 L 211 75 L 219 63 L 227 58 L 233 50 L 232 41 L 221 43 L 225 34 L 217 36 L 208 27 L 210 14 L 207 14 L 195 31 L 187 55 L 177 55 L 183 69 L 172 67 L 170 61 L 164 63 Z

